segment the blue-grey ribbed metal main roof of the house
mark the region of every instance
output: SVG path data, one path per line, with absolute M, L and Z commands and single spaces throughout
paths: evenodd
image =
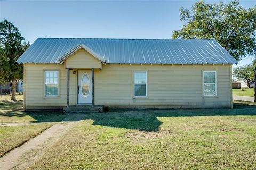
M 60 63 L 83 44 L 106 63 L 234 64 L 237 61 L 215 39 L 38 38 L 18 63 Z

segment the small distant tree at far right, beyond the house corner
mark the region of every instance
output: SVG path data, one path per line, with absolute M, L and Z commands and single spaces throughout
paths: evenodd
M 248 88 L 251 88 L 251 84 L 254 82 L 254 65 L 248 64 L 241 67 L 237 67 L 233 70 L 237 80 L 243 80 Z

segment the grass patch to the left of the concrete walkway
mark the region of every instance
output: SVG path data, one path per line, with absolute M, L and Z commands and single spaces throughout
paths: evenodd
M 22 101 L 0 96 L 0 157 L 66 117 L 60 111 L 25 112 L 20 108 Z

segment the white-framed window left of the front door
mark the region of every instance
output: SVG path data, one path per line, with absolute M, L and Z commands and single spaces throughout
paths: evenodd
M 59 71 L 44 72 L 44 96 L 59 96 Z

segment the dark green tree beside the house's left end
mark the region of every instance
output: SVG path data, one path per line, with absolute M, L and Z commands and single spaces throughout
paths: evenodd
M 16 61 L 29 47 L 13 23 L 0 22 L 0 80 L 12 82 L 12 100 L 16 101 L 16 82 L 23 78 L 23 65 Z

